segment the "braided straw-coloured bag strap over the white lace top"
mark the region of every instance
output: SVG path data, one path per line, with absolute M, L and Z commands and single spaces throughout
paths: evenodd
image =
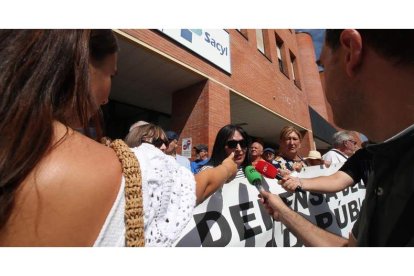
M 142 177 L 138 159 L 120 139 L 114 140 L 110 147 L 121 161 L 125 177 L 125 244 L 133 247 L 145 246 Z

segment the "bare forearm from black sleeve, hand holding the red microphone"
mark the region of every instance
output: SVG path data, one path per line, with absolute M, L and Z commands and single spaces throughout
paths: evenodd
M 281 180 L 282 187 L 294 192 L 300 186 L 302 190 L 316 193 L 336 193 L 354 184 L 354 180 L 343 171 L 337 171 L 328 176 L 315 178 L 298 178 L 286 176 Z

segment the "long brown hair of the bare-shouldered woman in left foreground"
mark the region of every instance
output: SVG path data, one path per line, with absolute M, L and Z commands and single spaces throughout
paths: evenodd
M 95 51 L 118 49 L 95 42 L 108 36 L 117 45 L 111 30 L 0 31 L 0 228 L 10 216 L 16 189 L 56 146 L 51 144 L 53 121 L 75 120 L 87 128 L 96 108 L 89 93 L 89 62 L 99 56 Z

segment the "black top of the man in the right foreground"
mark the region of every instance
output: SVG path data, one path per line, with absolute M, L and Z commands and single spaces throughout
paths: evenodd
M 359 246 L 414 246 L 414 125 L 367 151 L 372 172 L 352 233 Z

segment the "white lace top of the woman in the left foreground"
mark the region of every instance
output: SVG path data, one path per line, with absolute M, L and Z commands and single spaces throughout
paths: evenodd
M 132 151 L 142 175 L 145 246 L 171 246 L 193 216 L 193 174 L 151 144 Z M 125 180 L 94 246 L 125 246 Z

